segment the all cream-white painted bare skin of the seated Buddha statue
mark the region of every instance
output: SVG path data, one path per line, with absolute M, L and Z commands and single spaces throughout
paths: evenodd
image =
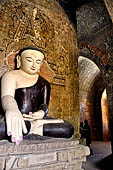
M 29 115 L 22 116 L 14 99 L 15 90 L 34 85 L 39 75 L 44 55 L 37 50 L 25 50 L 21 57 L 17 57 L 19 70 L 9 71 L 4 74 L 1 82 L 1 100 L 5 111 L 8 136 L 12 136 L 12 142 L 17 145 L 23 140 L 23 133 L 27 133 L 24 120 L 31 122 L 30 133 L 43 135 L 45 123 L 59 123 L 63 120 L 43 120 L 44 111 L 39 110 Z

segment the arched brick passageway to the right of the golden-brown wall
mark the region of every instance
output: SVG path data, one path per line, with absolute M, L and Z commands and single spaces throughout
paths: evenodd
M 104 128 L 103 121 L 105 117 L 103 118 L 102 112 L 102 94 L 105 89 L 105 84 L 101 72 L 96 64 L 88 58 L 80 56 L 78 64 L 80 121 L 84 121 L 85 119 L 89 121 L 92 139 L 104 140 L 106 129 Z

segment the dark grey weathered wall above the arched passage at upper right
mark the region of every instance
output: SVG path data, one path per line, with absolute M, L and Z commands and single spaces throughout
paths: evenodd
M 112 26 L 106 6 L 102 1 L 91 1 L 77 9 L 77 36 L 79 45 L 89 41 L 99 48 L 109 45 Z

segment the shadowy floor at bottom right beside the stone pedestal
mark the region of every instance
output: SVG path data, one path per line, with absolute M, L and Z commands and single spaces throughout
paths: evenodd
M 84 170 L 113 170 L 111 143 L 92 141 L 93 155 L 87 157 Z

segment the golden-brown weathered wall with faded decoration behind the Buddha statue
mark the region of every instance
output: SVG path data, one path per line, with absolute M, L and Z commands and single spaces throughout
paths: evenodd
M 12 51 L 37 46 L 55 72 L 50 115 L 71 122 L 78 132 L 77 40 L 66 14 L 53 0 L 0 1 L 0 65 Z

